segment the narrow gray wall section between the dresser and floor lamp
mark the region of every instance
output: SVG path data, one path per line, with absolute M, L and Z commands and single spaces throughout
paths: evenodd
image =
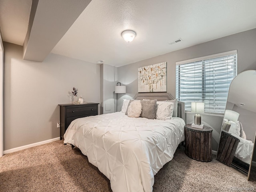
M 114 113 L 116 111 L 115 86 L 117 83 L 117 67 L 107 64 L 100 65 L 100 113 Z

